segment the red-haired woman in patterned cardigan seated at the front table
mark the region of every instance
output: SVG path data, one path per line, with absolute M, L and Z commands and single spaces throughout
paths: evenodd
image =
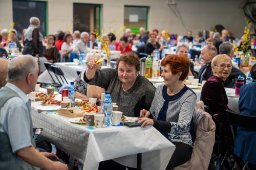
M 189 71 L 189 60 L 185 55 L 169 55 L 161 61 L 164 84 L 156 89 L 150 111 L 140 111 L 137 122 L 141 127 L 154 126 L 176 150 L 166 169 L 172 169 L 187 162 L 193 150 L 193 112 L 196 94 L 183 84 Z M 153 116 L 153 119 L 148 118 Z

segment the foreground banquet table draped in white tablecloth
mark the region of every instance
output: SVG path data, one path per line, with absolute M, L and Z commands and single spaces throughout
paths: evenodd
M 61 95 L 57 94 L 56 99 L 60 100 Z M 97 129 L 72 124 L 69 117 L 40 112 L 42 108 L 51 110 L 60 106 L 41 106 L 39 101 L 31 106 L 33 126 L 44 128 L 42 136 L 82 162 L 86 170 L 95 170 L 100 161 L 110 159 L 136 167 L 138 153 L 142 153 L 142 169 L 165 169 L 175 150 L 175 145 L 154 127 Z

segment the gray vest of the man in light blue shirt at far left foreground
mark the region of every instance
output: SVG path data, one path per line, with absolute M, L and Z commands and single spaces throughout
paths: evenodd
M 4 104 L 13 97 L 19 97 L 19 95 L 8 87 L 2 87 L 0 89 L 0 110 Z M 29 113 L 28 113 L 29 114 Z M 31 143 L 35 147 L 35 140 L 33 138 L 33 124 L 32 118 L 30 117 L 30 135 Z M 17 120 L 18 121 L 18 120 Z M 11 144 L 9 137 L 6 133 L 0 132 L 0 170 L 4 169 L 39 169 L 38 167 L 32 166 L 19 158 L 17 154 L 12 153 Z

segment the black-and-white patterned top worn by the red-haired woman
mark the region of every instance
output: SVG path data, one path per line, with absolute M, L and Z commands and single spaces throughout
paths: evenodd
M 161 132 L 172 142 L 183 142 L 193 147 L 193 112 L 197 96 L 193 90 L 184 86 L 177 94 L 169 96 L 167 86 L 159 85 L 150 108 L 154 119 L 169 122 L 171 130 Z

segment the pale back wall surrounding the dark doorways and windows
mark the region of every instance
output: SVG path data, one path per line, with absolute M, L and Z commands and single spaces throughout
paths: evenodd
M 46 0 L 47 1 L 47 0 Z M 148 6 L 148 30 L 169 30 L 170 33 L 193 35 L 203 29 L 214 29 L 222 24 L 234 36 L 242 36 L 244 13 L 238 8 L 240 0 L 176 0 L 172 6 L 184 21 L 185 27 L 167 6 L 166 0 L 48 0 L 48 34 L 57 30 L 66 31 L 71 25 L 73 31 L 73 3 L 101 4 L 102 29 L 117 32 L 123 26 L 124 5 Z M 12 22 L 12 0 L 0 1 L 0 29 L 10 28 Z

